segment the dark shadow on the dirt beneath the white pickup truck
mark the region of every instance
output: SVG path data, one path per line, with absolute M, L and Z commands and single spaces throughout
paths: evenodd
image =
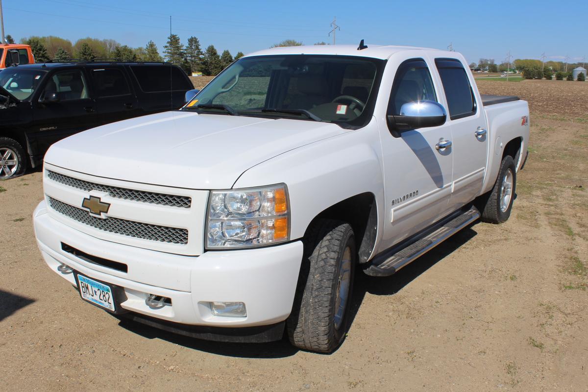
M 389 296 L 398 293 L 410 282 L 415 280 L 423 272 L 441 262 L 449 254 L 453 253 L 463 244 L 475 237 L 477 232 L 469 227 L 455 234 L 452 238 L 439 244 L 435 249 L 430 250 L 424 256 L 410 263 L 399 272 L 389 277 L 372 277 L 363 274 L 359 269 L 355 276 L 355 287 L 350 304 L 349 326 L 353 323 L 359 307 L 362 304 L 366 293 Z M 145 326 L 129 320 L 121 320 L 119 326 L 133 333 L 139 334 L 147 339 L 162 339 L 169 343 L 179 344 L 193 350 L 205 351 L 228 357 L 242 358 L 283 358 L 296 354 L 299 350 L 290 345 L 288 338 L 272 343 L 222 343 L 206 341 L 169 333 L 154 327 Z M 345 344 L 345 343 L 343 343 Z

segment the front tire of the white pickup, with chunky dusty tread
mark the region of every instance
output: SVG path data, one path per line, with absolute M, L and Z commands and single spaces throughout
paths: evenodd
M 355 236 L 348 223 L 321 219 L 309 229 L 287 321 L 294 346 L 330 353 L 345 339 L 355 264 Z

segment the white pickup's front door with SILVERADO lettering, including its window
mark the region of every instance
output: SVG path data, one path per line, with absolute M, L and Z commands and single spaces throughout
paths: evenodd
M 410 59 L 396 71 L 387 115 L 400 115 L 407 102 L 437 100 L 435 83 L 423 59 Z M 447 214 L 451 195 L 452 148 L 437 149 L 451 140 L 445 124 L 393 135 L 380 129 L 385 177 L 386 222 L 382 241 L 391 246 Z

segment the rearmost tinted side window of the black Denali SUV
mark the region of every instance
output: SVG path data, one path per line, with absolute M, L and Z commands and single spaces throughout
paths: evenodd
M 131 66 L 139 86 L 144 92 L 190 90 L 185 73 L 175 66 Z M 171 78 L 171 81 L 169 80 Z

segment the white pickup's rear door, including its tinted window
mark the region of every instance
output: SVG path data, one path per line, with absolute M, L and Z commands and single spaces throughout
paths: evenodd
M 469 72 L 457 59 L 437 58 L 435 65 L 443 83 L 453 135 L 453 195 L 457 209 L 472 201 L 482 189 L 486 170 L 486 116 L 476 102 Z

